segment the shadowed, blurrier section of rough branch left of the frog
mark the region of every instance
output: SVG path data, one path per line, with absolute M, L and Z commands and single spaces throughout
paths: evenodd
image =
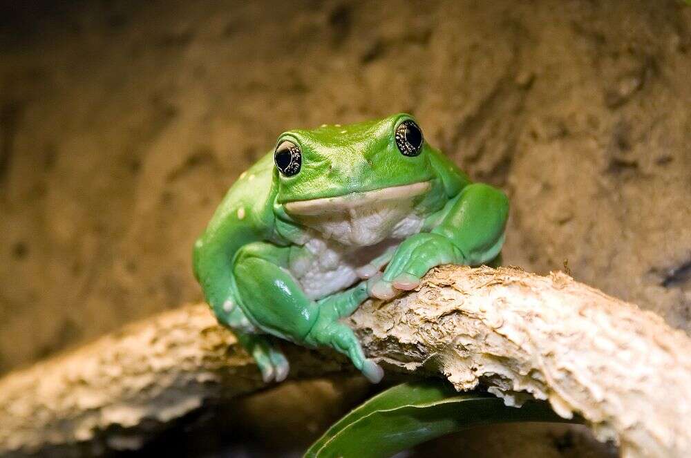
M 287 350 L 293 376 L 341 370 L 316 352 Z M 0 381 L 0 454 L 50 444 L 57 455 L 138 449 L 202 404 L 264 385 L 209 307 L 188 305 L 8 374 Z

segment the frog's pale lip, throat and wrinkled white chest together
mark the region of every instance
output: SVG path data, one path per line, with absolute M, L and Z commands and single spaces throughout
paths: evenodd
M 291 274 L 311 299 L 320 299 L 357 282 L 357 269 L 406 237 L 418 233 L 424 209 L 416 209 L 429 182 L 285 204 L 310 228 L 305 256 L 294 260 Z

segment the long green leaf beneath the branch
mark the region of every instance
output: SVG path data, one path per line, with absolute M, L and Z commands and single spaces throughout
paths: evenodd
M 451 432 L 511 421 L 581 422 L 558 417 L 544 401 L 513 408 L 489 394 L 459 394 L 442 381 L 403 383 L 345 415 L 305 458 L 390 457 Z

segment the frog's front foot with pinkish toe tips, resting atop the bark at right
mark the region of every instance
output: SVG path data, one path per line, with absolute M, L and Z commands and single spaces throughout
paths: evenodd
M 463 263 L 464 256 L 451 240 L 437 233 L 418 233 L 399 245 L 381 278 L 372 278 L 370 295 L 395 298 L 402 291 L 415 289 L 433 267 Z

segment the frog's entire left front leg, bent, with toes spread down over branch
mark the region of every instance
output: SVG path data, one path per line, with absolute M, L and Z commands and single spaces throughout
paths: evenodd
M 287 271 L 292 249 L 297 248 L 265 242 L 240 249 L 233 271 L 243 311 L 264 332 L 305 345 L 333 347 L 350 356 L 368 379 L 379 381 L 381 368 L 365 358 L 357 337 L 339 321 L 368 297 L 367 286 L 310 300 Z

